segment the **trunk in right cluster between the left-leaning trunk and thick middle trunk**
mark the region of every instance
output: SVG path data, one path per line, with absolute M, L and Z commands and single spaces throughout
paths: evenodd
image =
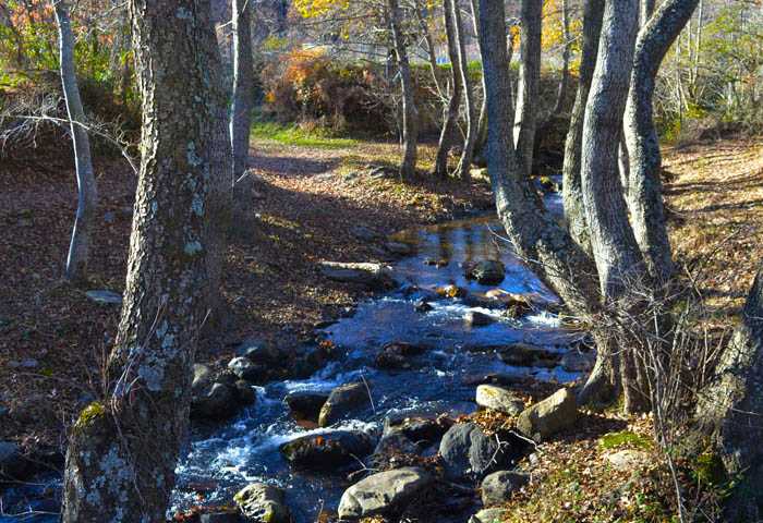
M 585 251 L 591 252 L 591 239 L 585 221 L 583 191 L 580 184 L 580 155 L 583 141 L 583 120 L 589 99 L 593 71 L 596 66 L 598 37 L 602 33 L 604 0 L 585 0 L 583 13 L 583 49 L 580 59 L 580 80 L 572 107 L 570 127 L 565 143 L 565 165 L 561 194 L 565 218 L 570 234 Z

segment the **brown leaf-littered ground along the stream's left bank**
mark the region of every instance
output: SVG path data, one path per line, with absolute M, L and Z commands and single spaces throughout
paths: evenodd
M 432 154 L 423 151 L 422 165 Z M 287 329 L 298 337 L 351 306 L 363 291 L 320 278 L 315 262 L 388 256 L 356 239 L 354 227 L 386 235 L 489 206 L 481 183 L 352 174 L 396 155 L 395 144 L 254 144 L 256 228 L 229 248 L 225 285 L 233 329 L 226 339 L 206 340 L 201 361 L 222 357 L 246 336 L 283 337 Z M 62 443 L 77 405 L 100 394 L 119 307 L 93 303 L 85 291 L 124 287 L 135 177 L 121 163 L 96 166 L 101 203 L 92 281 L 74 288 L 60 279 L 76 204 L 65 158 L 48 162 L 44 173 L 31 168 L 0 175 L 0 439 L 28 447 Z

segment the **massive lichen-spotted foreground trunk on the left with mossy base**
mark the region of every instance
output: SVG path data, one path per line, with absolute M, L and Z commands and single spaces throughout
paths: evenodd
M 214 39 L 209 2 L 131 0 L 130 12 L 143 158 L 124 306 L 107 396 L 82 412 L 70 435 L 64 523 L 165 521 L 207 315 L 209 122 L 218 107 L 205 52 Z

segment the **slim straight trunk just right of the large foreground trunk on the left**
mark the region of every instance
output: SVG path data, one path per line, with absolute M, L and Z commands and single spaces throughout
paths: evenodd
M 254 60 L 252 58 L 251 0 L 233 0 L 233 104 L 230 136 L 233 159 L 231 187 L 233 192 L 232 226 L 251 220 L 252 180 L 247 177 L 252 107 L 254 105 Z

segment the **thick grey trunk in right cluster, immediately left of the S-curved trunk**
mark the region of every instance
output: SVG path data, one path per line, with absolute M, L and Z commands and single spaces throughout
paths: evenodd
M 607 0 L 588 110 L 583 124 L 581 184 L 602 295 L 614 314 L 638 314 L 634 297 L 651 289 L 643 257 L 628 221 L 618 153 L 622 114 L 638 31 L 638 0 Z M 634 314 L 634 315 L 635 315 Z M 638 317 L 638 316 L 637 316 Z M 649 406 L 635 344 L 620 354 L 626 410 Z

